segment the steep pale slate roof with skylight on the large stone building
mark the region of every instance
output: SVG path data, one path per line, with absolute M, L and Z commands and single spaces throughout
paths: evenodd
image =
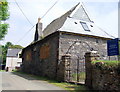
M 47 36 L 55 31 L 72 32 L 102 38 L 113 38 L 95 25 L 82 3 L 78 3 L 64 15 L 52 21 L 44 29 L 43 35 Z

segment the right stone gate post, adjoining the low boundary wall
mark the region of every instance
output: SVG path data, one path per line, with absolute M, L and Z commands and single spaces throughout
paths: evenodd
M 85 85 L 92 88 L 92 61 L 97 60 L 99 55 L 96 51 L 85 53 L 85 68 L 86 68 L 86 79 Z

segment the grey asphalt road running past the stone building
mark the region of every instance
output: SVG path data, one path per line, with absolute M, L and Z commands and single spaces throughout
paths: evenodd
M 46 81 L 36 80 L 28 75 L 9 72 L 0 72 L 1 74 L 2 90 L 64 90 Z

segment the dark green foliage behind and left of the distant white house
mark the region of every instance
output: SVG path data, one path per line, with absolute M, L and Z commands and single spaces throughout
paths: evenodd
M 2 58 L 3 58 L 3 64 L 6 63 L 6 55 L 7 55 L 7 50 L 8 48 L 18 48 L 22 49 L 23 47 L 20 45 L 14 45 L 11 42 L 7 42 L 5 45 L 2 45 Z

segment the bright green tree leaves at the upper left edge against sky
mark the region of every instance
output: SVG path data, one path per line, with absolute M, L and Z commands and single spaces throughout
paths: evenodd
M 0 1 L 0 40 L 7 34 L 8 24 L 3 22 L 9 18 L 8 2 L 7 0 Z

